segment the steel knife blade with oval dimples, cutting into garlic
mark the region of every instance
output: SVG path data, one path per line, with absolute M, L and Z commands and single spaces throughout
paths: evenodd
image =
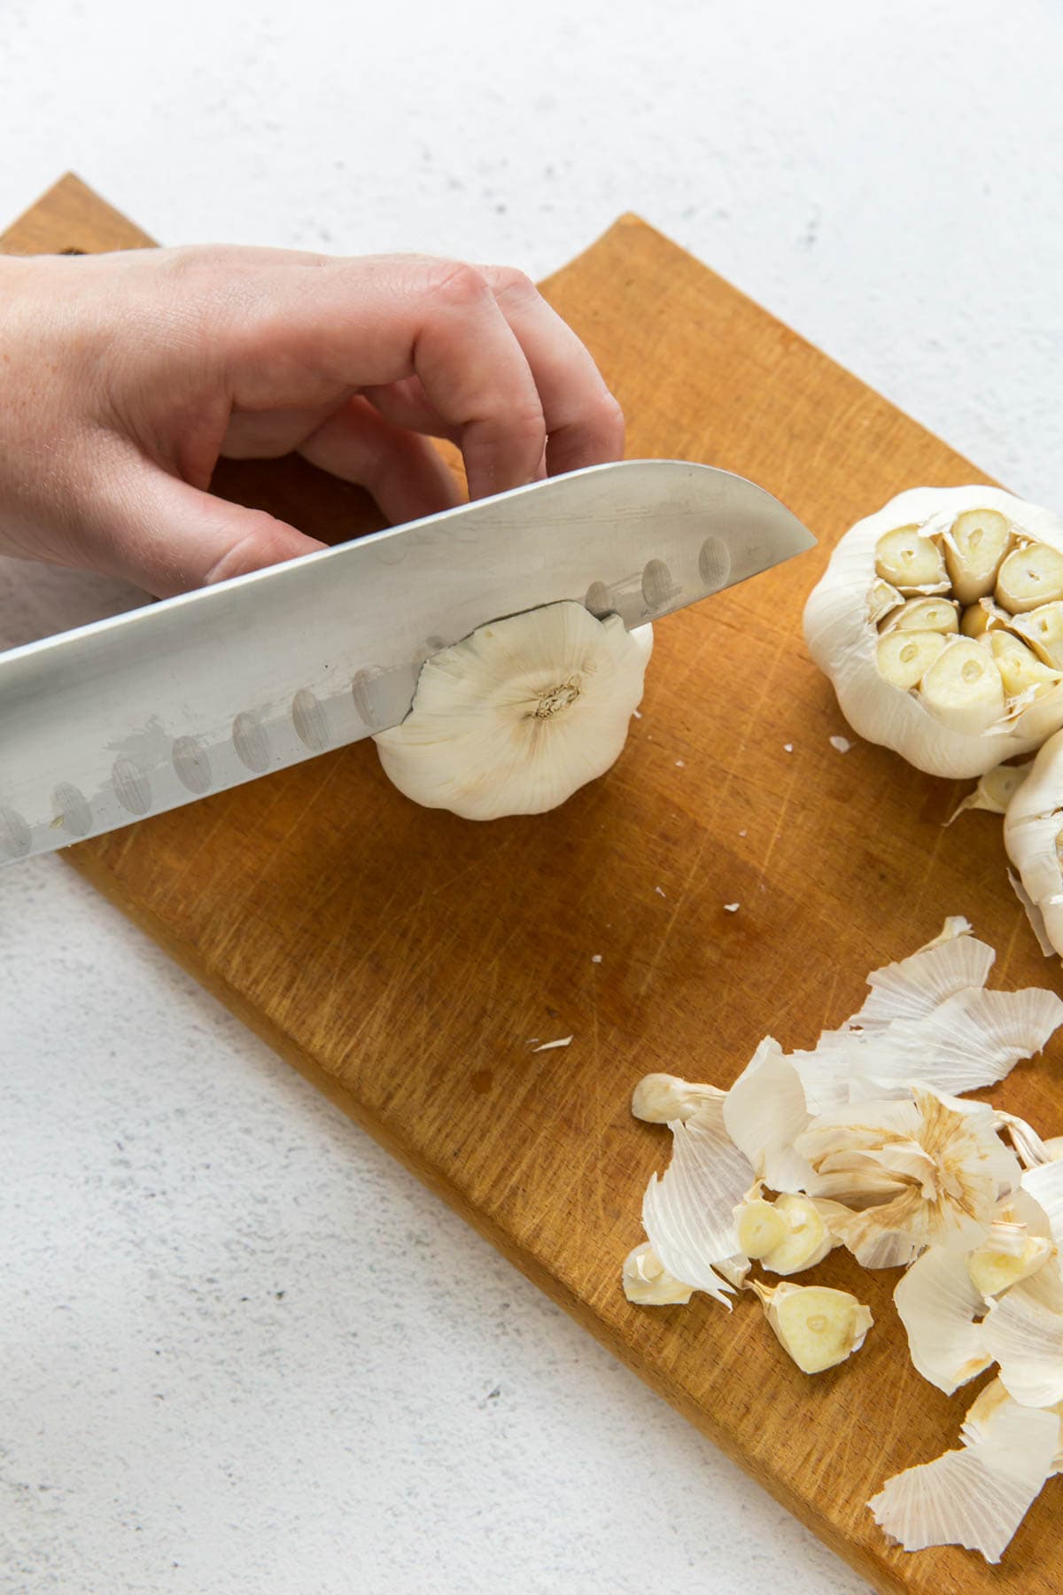
M 0 863 L 397 726 L 429 654 L 561 598 L 628 627 L 813 547 L 681 459 L 551 477 L 0 654 Z

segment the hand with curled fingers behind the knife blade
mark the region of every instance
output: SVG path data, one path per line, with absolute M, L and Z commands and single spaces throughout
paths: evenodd
M 623 451 L 594 362 L 518 271 L 274 249 L 0 258 L 0 553 L 158 597 L 312 538 L 214 498 L 222 455 L 298 450 L 392 522 Z

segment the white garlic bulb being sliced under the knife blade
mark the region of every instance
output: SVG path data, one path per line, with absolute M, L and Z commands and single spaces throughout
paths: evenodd
M 572 600 L 481 625 L 426 659 L 408 716 L 373 738 L 384 774 L 465 820 L 556 809 L 620 758 L 652 646 Z

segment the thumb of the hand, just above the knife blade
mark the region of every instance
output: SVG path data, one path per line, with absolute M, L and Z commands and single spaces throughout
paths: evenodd
M 265 510 L 229 504 L 148 464 L 112 482 L 92 520 L 92 565 L 156 598 L 325 547 Z

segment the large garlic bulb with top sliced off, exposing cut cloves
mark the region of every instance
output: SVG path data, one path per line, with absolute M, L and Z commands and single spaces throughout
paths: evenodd
M 841 538 L 805 638 L 862 737 L 982 775 L 1063 726 L 1063 518 L 999 488 L 910 488 Z

